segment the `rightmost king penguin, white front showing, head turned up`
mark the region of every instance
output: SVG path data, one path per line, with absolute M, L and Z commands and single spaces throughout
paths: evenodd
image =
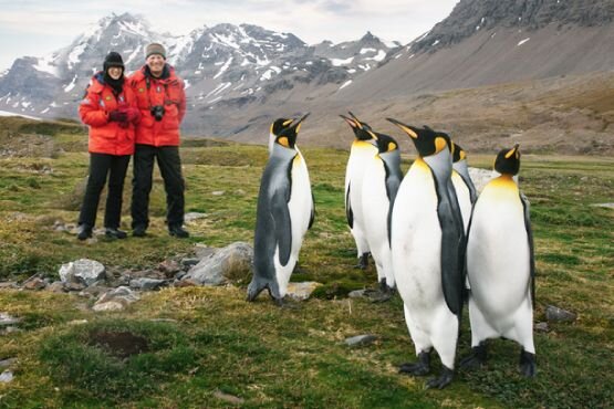
M 519 169 L 518 145 L 501 150 L 495 161 L 501 176 L 483 188 L 473 208 L 467 241 L 471 355 L 461 366 L 483 363 L 485 340 L 504 337 L 522 346 L 520 371 L 532 377 L 535 263 L 529 202 L 513 178 Z

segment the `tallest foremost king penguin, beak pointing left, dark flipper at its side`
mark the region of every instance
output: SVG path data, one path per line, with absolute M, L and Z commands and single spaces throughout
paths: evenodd
M 405 321 L 418 363 L 400 373 L 430 371 L 435 348 L 444 369 L 427 388 L 444 388 L 454 377 L 456 345 L 462 310 L 465 233 L 451 182 L 451 141 L 448 135 L 388 118 L 418 150 L 396 195 L 392 217 L 393 268 Z

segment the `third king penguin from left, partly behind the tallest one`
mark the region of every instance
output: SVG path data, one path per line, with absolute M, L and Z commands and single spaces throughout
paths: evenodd
M 391 297 L 395 287 L 391 253 L 391 216 L 403 179 L 398 144 L 388 135 L 374 133 L 378 154 L 365 164 L 362 203 L 365 231 L 377 269 L 379 290 Z

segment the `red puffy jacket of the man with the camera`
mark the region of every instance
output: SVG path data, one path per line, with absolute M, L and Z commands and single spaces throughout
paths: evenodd
M 163 75 L 156 78 L 147 73 L 147 65 L 132 74 L 129 86 L 136 95 L 142 119 L 136 127 L 136 143 L 153 146 L 178 146 L 179 125 L 186 114 L 184 81 L 175 69 L 165 64 Z M 152 107 L 164 106 L 162 120 L 152 115 Z

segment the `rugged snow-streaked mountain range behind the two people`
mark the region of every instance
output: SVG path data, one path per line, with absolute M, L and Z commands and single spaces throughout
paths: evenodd
M 374 69 L 393 48 L 368 33 L 355 42 L 310 46 L 291 33 L 251 24 L 201 27 L 188 35 L 153 32 L 147 21 L 108 15 L 72 44 L 43 57 L 18 59 L 0 74 L 0 109 L 42 117 L 74 117 L 76 104 L 108 51 L 119 52 L 127 71 L 144 64 L 149 42 L 167 48 L 168 62 L 186 81 L 191 132 L 236 133 L 217 113 L 274 98 L 304 101 L 305 87 L 333 93 Z M 217 109 L 214 118 L 202 117 Z

